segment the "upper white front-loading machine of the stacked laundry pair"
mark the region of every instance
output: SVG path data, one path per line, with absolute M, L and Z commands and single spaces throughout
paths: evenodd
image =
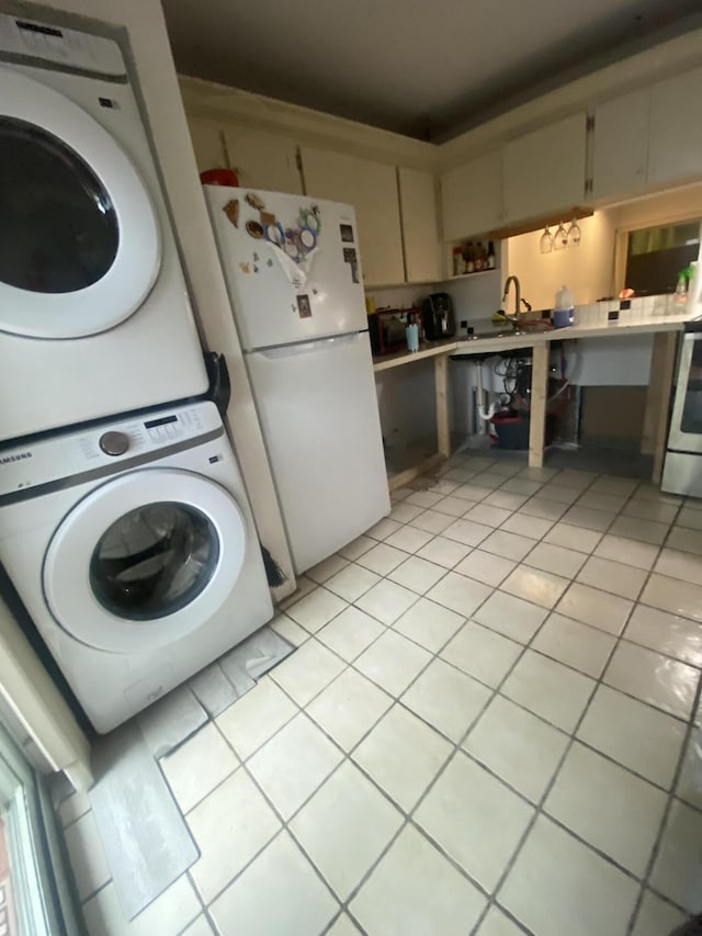
M 206 388 L 118 46 L 0 15 L 0 440 Z

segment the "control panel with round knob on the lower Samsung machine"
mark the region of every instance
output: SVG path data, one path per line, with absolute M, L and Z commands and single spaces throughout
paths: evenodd
M 223 432 L 217 407 L 207 401 L 149 410 L 129 419 L 101 420 L 0 448 L 0 498 L 44 485 L 80 484 L 128 471 Z

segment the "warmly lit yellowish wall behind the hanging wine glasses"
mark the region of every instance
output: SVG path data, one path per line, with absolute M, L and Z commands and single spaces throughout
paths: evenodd
M 569 222 L 564 224 L 567 229 Z M 553 308 L 555 294 L 564 283 L 573 290 L 576 305 L 612 295 L 615 215 L 598 211 L 578 224 L 582 233 L 579 247 L 542 253 L 539 248 L 542 230 L 510 237 L 507 241 L 508 274 L 519 278 L 522 296 L 535 309 Z

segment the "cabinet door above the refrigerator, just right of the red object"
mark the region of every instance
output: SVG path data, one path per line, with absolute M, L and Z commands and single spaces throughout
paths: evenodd
M 241 188 L 302 194 L 297 151 L 292 137 L 239 124 L 229 124 L 224 136 L 229 165 L 239 173 Z

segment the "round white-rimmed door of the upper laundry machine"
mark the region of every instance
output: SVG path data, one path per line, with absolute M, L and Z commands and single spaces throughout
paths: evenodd
M 90 114 L 0 67 L 0 330 L 80 338 L 128 318 L 161 260 L 134 165 Z

